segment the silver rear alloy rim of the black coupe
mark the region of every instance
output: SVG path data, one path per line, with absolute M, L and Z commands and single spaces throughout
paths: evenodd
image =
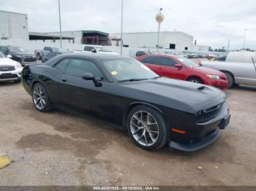
M 33 91 L 33 101 L 34 105 L 37 107 L 37 109 L 44 109 L 46 105 L 46 96 L 45 96 L 45 90 L 37 86 L 34 88 Z

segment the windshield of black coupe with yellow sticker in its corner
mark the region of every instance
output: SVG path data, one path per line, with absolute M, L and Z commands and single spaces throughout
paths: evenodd
M 134 59 L 117 59 L 103 61 L 103 65 L 108 70 L 111 76 L 117 81 L 129 79 L 143 80 L 159 77 L 154 71 L 148 69 L 143 63 Z

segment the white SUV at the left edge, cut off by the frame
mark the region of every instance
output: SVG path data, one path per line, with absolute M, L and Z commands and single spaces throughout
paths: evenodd
M 14 81 L 19 83 L 21 81 L 22 66 L 16 61 L 10 59 L 11 55 L 4 55 L 0 52 L 0 82 Z

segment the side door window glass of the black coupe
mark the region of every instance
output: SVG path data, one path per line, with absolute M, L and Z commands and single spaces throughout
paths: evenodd
M 93 62 L 81 59 L 71 59 L 69 66 L 67 66 L 66 74 L 82 77 L 86 72 L 94 74 L 95 79 L 105 79 L 102 72 Z

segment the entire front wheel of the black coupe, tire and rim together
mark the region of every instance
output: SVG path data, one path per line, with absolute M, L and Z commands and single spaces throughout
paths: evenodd
M 167 124 L 164 117 L 149 106 L 136 106 L 129 112 L 127 129 L 132 141 L 142 149 L 157 150 L 167 144 Z

